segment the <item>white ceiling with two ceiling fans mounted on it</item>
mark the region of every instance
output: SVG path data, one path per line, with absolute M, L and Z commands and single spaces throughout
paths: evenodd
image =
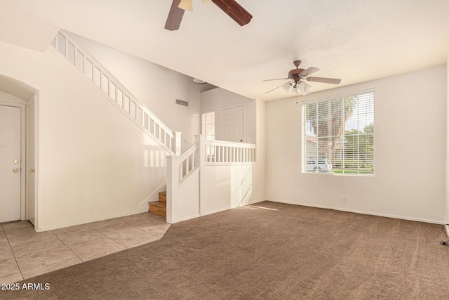
M 171 0 L 0 0 L 0 41 L 45 51 L 59 28 L 249 98 L 287 77 L 293 60 L 340 86 L 446 63 L 448 0 L 238 0 L 243 27 L 194 0 L 180 30 L 164 25 Z M 311 92 L 332 84 L 310 83 Z M 415 83 L 410 83 L 413 86 Z

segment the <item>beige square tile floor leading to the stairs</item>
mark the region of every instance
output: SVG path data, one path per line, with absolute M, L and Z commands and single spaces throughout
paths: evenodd
M 156 214 L 123 216 L 36 233 L 28 221 L 0 224 L 0 283 L 12 283 L 159 240 L 170 224 Z

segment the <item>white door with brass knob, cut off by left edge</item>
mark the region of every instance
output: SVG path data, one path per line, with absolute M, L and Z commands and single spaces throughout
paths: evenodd
M 20 108 L 0 105 L 0 222 L 20 220 Z

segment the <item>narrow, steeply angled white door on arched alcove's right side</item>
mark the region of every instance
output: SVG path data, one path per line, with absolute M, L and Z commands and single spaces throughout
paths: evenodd
M 34 101 L 27 105 L 27 219 L 36 225 L 34 198 Z

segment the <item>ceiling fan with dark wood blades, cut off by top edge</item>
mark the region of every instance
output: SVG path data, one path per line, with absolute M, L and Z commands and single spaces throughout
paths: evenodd
M 203 0 L 204 3 L 212 1 L 222 11 L 227 13 L 232 20 L 236 21 L 240 26 L 250 22 L 253 15 L 248 13 L 245 8 L 241 7 L 235 0 Z M 166 21 L 166 30 L 178 30 L 180 28 L 182 15 L 184 12 L 193 11 L 193 0 L 173 0 Z

